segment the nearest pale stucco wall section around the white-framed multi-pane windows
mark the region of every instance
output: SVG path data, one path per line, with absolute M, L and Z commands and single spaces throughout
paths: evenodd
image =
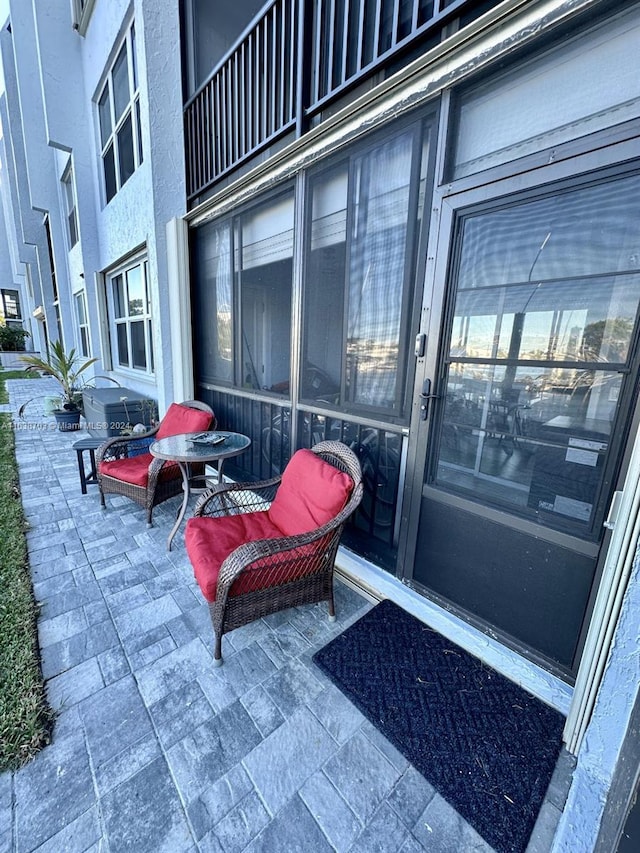
M 151 0 L 96 4 L 82 47 L 85 100 L 93 103 L 99 93 L 105 69 L 113 61 L 131 13 L 136 26 L 144 159 L 105 205 L 96 122 L 92 116 L 96 269 L 108 270 L 138 246 L 147 247 L 156 363 L 156 387 L 152 390 L 163 411 L 173 399 L 165 226 L 169 219 L 183 215 L 186 210 L 177 4 Z M 80 219 L 82 228 L 82 213 Z M 85 241 L 83 231 L 86 256 Z M 136 390 L 150 390 L 142 377 L 128 374 L 123 378 Z

